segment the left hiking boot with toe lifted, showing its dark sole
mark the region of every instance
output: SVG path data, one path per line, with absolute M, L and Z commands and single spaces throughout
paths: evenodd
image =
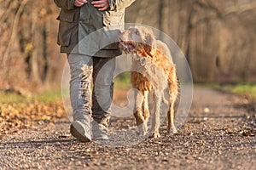
M 70 125 L 70 133 L 81 142 L 91 141 L 90 122 L 74 121 Z

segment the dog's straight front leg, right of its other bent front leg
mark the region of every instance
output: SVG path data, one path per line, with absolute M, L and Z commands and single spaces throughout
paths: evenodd
M 154 111 L 152 114 L 152 123 L 151 123 L 151 138 L 159 138 L 159 127 L 160 127 L 160 104 L 161 104 L 161 95 L 160 92 L 154 92 Z

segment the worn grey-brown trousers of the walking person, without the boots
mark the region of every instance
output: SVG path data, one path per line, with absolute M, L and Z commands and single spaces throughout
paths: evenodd
M 113 99 L 114 58 L 67 54 L 70 66 L 70 100 L 73 120 L 90 121 L 90 116 L 108 127 Z M 91 93 L 92 89 L 92 93 Z

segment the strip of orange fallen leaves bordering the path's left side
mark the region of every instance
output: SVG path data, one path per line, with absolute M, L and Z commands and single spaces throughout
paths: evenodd
M 67 116 L 61 99 L 44 103 L 25 101 L 0 104 L 0 136 L 19 132 L 21 128 L 33 128 L 45 122 L 52 124 Z

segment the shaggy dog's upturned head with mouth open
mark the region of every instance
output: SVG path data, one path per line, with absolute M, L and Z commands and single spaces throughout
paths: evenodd
M 128 30 L 119 31 L 119 48 L 126 54 L 143 54 L 153 57 L 156 40 L 154 32 L 144 26 L 130 27 Z

